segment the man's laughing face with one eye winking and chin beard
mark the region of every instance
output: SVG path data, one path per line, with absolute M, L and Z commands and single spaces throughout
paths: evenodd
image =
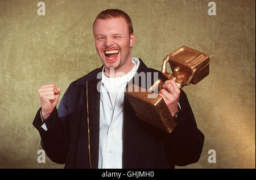
M 96 50 L 105 68 L 115 68 L 115 70 L 129 68 L 134 34 L 129 35 L 125 19 L 122 17 L 97 19 L 93 33 Z

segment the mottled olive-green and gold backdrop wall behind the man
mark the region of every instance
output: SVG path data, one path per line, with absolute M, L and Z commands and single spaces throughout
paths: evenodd
M 213 55 L 210 74 L 184 87 L 205 135 L 200 161 L 182 168 L 255 168 L 255 1 L 0 1 L 0 168 L 63 168 L 38 164 L 40 136 L 32 120 L 38 89 L 69 83 L 101 66 L 92 23 L 109 8 L 134 24 L 133 57 L 151 68 L 182 45 Z M 217 153 L 208 163 L 208 150 Z

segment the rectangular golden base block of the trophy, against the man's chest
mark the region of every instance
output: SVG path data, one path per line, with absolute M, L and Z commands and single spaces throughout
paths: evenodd
M 171 133 L 177 124 L 163 98 L 137 85 L 131 84 L 130 86 L 132 86 L 132 89 L 128 87 L 125 95 L 139 119 Z

